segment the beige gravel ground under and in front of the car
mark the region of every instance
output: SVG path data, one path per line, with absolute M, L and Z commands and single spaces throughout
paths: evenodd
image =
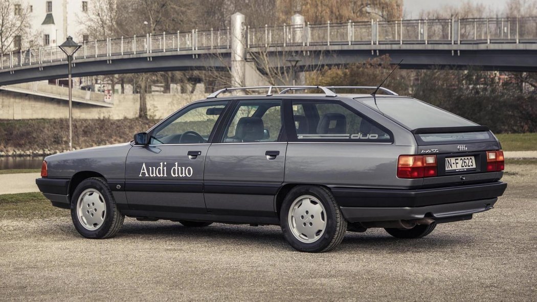
M 277 226 L 126 219 L 81 238 L 65 217 L 0 220 L 0 300 L 537 300 L 537 165 L 512 165 L 494 210 L 423 239 L 347 233 L 295 252 Z M 36 213 L 36 217 L 39 213 Z

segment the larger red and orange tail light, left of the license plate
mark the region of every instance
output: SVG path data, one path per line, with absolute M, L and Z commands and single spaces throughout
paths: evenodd
M 436 155 L 401 155 L 397 160 L 398 178 L 424 178 L 437 176 Z

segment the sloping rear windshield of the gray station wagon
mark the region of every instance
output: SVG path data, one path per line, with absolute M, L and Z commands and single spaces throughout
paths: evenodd
M 360 99 L 367 106 L 378 109 L 408 129 L 477 126 L 462 117 L 411 98 Z

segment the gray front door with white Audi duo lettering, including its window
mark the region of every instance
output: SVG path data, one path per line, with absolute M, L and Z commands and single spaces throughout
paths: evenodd
M 204 164 L 227 101 L 192 104 L 158 124 L 149 145 L 127 155 L 125 190 L 133 210 L 206 213 Z

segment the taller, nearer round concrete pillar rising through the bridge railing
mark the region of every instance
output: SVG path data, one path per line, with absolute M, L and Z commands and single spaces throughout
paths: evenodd
M 231 15 L 231 85 L 244 86 L 246 65 L 246 26 L 244 14 L 236 12 Z

